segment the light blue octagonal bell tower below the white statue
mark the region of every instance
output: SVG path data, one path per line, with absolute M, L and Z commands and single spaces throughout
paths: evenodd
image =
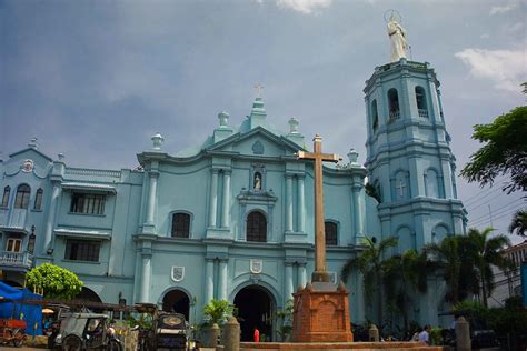
M 380 198 L 382 238 L 399 239 L 394 253 L 420 250 L 429 242 L 465 232 L 465 210 L 456 190 L 456 158 L 449 146 L 439 84 L 428 62 L 401 57 L 377 67 L 364 89 L 366 168 Z M 443 295 L 429 295 L 421 305 L 440 310 Z M 416 319 L 437 321 L 432 310 L 422 305 Z

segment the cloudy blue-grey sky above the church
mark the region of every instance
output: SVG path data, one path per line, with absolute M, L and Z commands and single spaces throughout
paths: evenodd
M 473 126 L 525 104 L 526 4 L 498 0 L 0 1 L 0 158 L 31 137 L 76 167 L 133 168 L 160 131 L 176 153 L 218 112 L 239 124 L 265 87 L 268 119 L 365 160 L 362 88 L 389 61 L 384 13 L 397 9 L 411 59 L 441 81 L 458 170 Z M 519 193 L 458 179 L 471 224 L 505 231 Z

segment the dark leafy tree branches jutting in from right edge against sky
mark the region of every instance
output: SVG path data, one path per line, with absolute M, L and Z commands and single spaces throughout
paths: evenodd
M 517 107 L 489 124 L 474 126 L 473 139 L 486 144 L 470 156 L 461 170 L 469 182 L 493 184 L 499 174 L 509 174 L 507 193 L 527 190 L 527 107 Z

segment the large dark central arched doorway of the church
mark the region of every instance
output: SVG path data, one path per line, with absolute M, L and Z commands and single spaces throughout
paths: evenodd
M 241 341 L 253 341 L 255 327 L 260 331 L 260 340 L 272 341 L 272 323 L 276 307 L 269 291 L 259 285 L 241 289 L 235 298 L 241 329 Z M 264 341 L 264 340 L 262 340 Z

